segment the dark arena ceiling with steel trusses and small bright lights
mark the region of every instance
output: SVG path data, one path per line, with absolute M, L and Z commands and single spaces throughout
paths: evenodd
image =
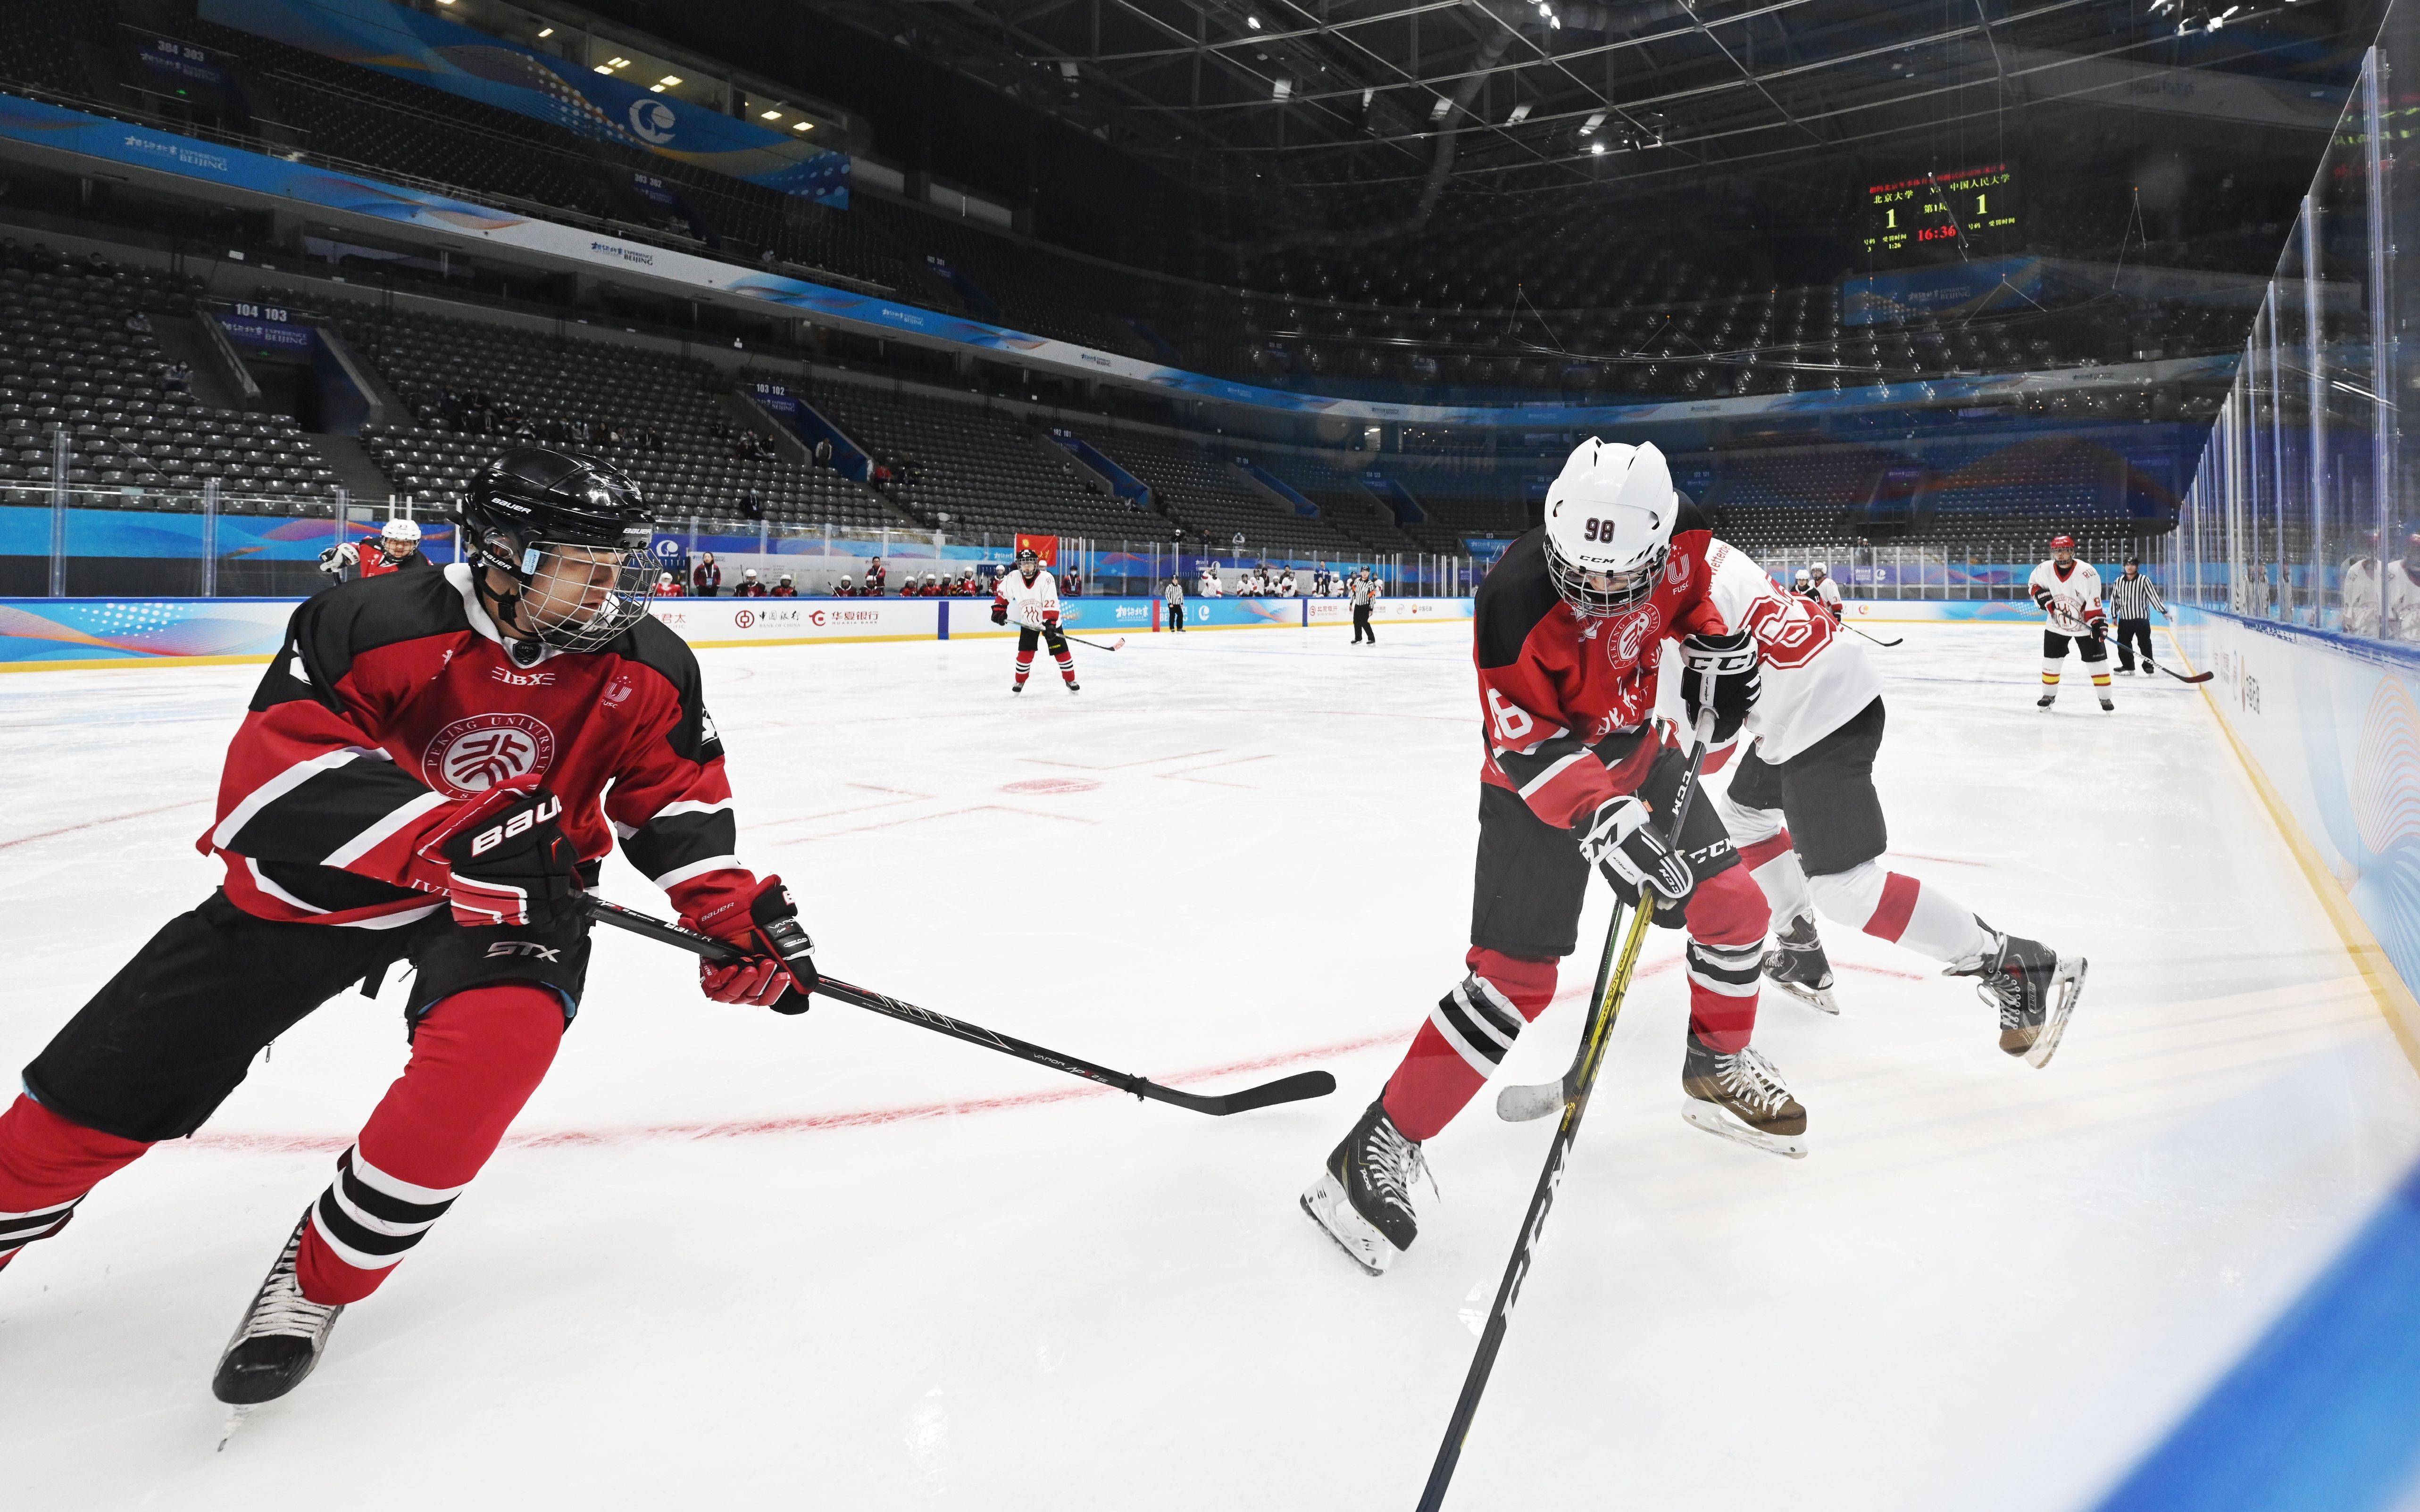
M 1425 220 L 1445 194 L 1687 186 L 1975 150 L 2045 102 L 2333 121 L 2362 0 L 818 0 L 1210 194 Z M 2185 80 L 2190 87 L 2178 87 Z M 2212 87 L 2217 85 L 2217 87 Z M 2229 87 L 2236 94 L 2229 94 Z M 2185 104 L 2178 111 L 2178 102 Z M 2253 123 L 2260 106 L 2251 104 Z M 2311 131 L 2277 111 L 2280 131 Z

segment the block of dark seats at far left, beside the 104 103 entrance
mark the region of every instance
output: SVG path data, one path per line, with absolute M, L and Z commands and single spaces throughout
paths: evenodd
M 191 285 L 162 273 L 0 244 L 0 486 L 48 489 L 63 428 L 68 484 L 119 491 L 80 503 L 201 508 L 215 479 L 230 513 L 327 513 L 336 474 L 290 421 L 162 387 L 172 363 L 150 322 L 191 307 Z

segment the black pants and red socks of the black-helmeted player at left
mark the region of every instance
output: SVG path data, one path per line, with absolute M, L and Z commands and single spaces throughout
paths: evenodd
M 394 939 L 404 936 L 404 939 Z M 499 941 L 542 946 L 501 958 Z M 554 1062 L 588 965 L 586 927 L 392 931 L 276 924 L 223 895 L 169 919 L 68 1021 L 0 1113 L 0 1265 L 157 1139 L 198 1130 L 252 1057 L 404 953 L 411 1057 L 312 1202 L 302 1294 L 358 1302 L 496 1152 Z M 552 956 L 552 960 L 549 960 Z

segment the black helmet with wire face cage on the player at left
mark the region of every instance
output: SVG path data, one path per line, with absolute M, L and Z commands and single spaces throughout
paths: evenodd
M 549 448 L 503 452 L 462 503 L 462 559 L 513 578 L 499 624 L 557 651 L 598 651 L 656 595 L 656 513 L 620 467 Z M 482 593 L 489 593 L 482 578 Z

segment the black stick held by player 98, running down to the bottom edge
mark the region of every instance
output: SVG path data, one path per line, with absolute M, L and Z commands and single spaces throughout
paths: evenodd
M 1679 793 L 1672 801 L 1672 827 L 1665 832 L 1665 844 L 1672 849 L 1679 849 L 1679 830 L 1689 820 L 1689 801 L 1696 798 L 1696 774 L 1706 764 L 1706 745 L 1711 743 L 1713 699 L 1709 697 L 1706 709 L 1696 716 L 1689 772 L 1679 779 Z M 1421 1490 L 1421 1512 L 1437 1512 L 1445 1505 L 1445 1488 L 1454 1481 L 1454 1466 L 1462 1464 L 1462 1442 L 1471 1435 L 1471 1420 L 1479 1415 L 1479 1396 L 1488 1389 L 1496 1352 L 1503 1350 L 1505 1331 L 1512 1326 L 1512 1304 L 1520 1302 L 1520 1285 L 1529 1275 L 1539 1236 L 1546 1231 L 1546 1210 L 1554 1207 L 1554 1190 L 1563 1185 L 1563 1166 L 1571 1159 L 1573 1139 L 1580 1137 L 1580 1115 L 1588 1113 L 1588 1096 L 1595 1091 L 1597 1072 L 1604 1067 L 1604 1045 L 1614 1033 L 1614 1018 L 1621 1016 L 1621 999 L 1631 989 L 1631 973 L 1638 968 L 1638 948 L 1648 939 L 1653 914 L 1655 898 L 1648 888 L 1638 890 L 1638 907 L 1631 910 L 1629 927 L 1621 919 L 1621 902 L 1614 902 L 1614 919 L 1604 931 L 1604 958 L 1597 963 L 1597 994 L 1588 1006 L 1588 1026 L 1580 1031 L 1580 1050 L 1571 1057 L 1563 1081 L 1546 1084 L 1563 1093 L 1563 1123 L 1556 1125 L 1554 1144 L 1546 1147 L 1546 1168 L 1537 1176 L 1537 1190 L 1529 1193 L 1529 1212 L 1520 1219 L 1520 1239 L 1512 1241 L 1512 1258 L 1505 1263 L 1503 1282 L 1496 1285 L 1496 1304 L 1488 1306 L 1488 1326 L 1479 1335 L 1479 1352 L 1471 1357 L 1469 1374 L 1462 1377 L 1462 1396 L 1454 1401 L 1454 1418 L 1445 1425 L 1445 1442 L 1437 1444 L 1437 1461 L 1428 1468 L 1428 1488 Z

